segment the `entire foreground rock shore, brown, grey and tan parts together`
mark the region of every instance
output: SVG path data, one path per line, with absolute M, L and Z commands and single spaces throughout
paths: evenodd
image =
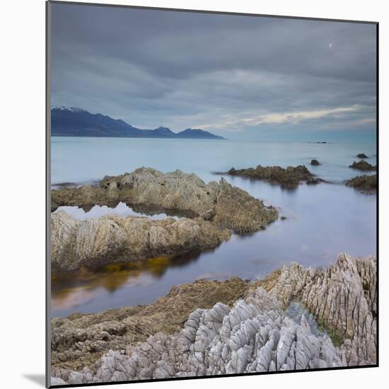
M 202 281 L 197 290 L 200 286 L 205 297 L 217 285 L 220 293 L 224 283 L 214 283 Z M 156 320 L 143 311 L 147 307 L 53 319 L 52 375 L 77 384 L 376 363 L 373 257 L 352 259 L 340 255 L 337 264 L 327 269 L 292 265 L 262 281 L 231 279 L 225 283 L 228 298 L 237 301 L 228 303 L 228 298 L 223 297 L 208 308 L 204 305 L 211 303 L 212 298 L 202 301 L 203 296 L 196 296 L 199 308 L 190 313 L 185 324 L 182 322 L 182 330 L 173 333 L 159 332 Z M 181 302 L 182 306 L 186 294 L 195 286 L 196 283 L 173 287 L 169 296 L 150 306 L 152 315 L 158 315 L 158 306 L 163 306 L 177 323 L 180 305 L 177 309 L 175 303 Z M 304 316 L 301 323 L 286 317 L 283 308 L 296 300 L 327 327 L 333 341 L 325 334 L 314 335 Z M 196 302 L 190 300 L 189 306 L 196 306 Z M 171 321 L 166 315 L 166 322 L 160 327 Z M 177 323 L 176 327 L 179 326 Z M 153 334 L 147 337 L 150 332 Z M 141 342 L 134 345 L 135 340 Z M 76 354 L 76 360 L 82 364 L 93 347 L 105 354 L 81 371 L 55 363 Z M 58 354 L 59 349 L 62 354 Z

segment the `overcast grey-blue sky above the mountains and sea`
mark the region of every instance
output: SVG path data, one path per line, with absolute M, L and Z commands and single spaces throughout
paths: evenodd
M 375 139 L 373 24 L 52 4 L 51 37 L 52 105 L 229 139 Z

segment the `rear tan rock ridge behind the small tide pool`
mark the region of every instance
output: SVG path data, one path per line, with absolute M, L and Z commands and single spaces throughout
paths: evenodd
M 277 209 L 265 207 L 263 202 L 223 178 L 205 184 L 197 175 L 180 170 L 161 173 L 139 168 L 132 173 L 105 177 L 99 185 L 52 190 L 51 197 L 52 210 L 63 205 L 82 207 L 121 201 L 144 213 L 173 210 L 177 214 L 200 216 L 238 233 L 259 231 L 278 216 Z

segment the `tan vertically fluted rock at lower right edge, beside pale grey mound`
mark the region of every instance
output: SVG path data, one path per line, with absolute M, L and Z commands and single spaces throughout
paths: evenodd
M 267 284 L 267 281 L 265 281 Z M 376 364 L 376 259 L 339 255 L 327 269 L 292 265 L 264 286 L 287 306 L 301 301 L 344 344 L 347 366 Z

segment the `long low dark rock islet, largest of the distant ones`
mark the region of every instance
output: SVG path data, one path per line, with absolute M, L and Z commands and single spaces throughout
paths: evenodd
M 228 175 L 238 175 L 240 177 L 251 178 L 252 180 L 265 180 L 277 183 L 282 187 L 296 187 L 300 182 L 307 184 L 318 184 L 323 182 L 306 168 L 306 166 L 288 166 L 286 169 L 280 166 L 260 166 L 257 168 L 239 169 L 231 168 Z

